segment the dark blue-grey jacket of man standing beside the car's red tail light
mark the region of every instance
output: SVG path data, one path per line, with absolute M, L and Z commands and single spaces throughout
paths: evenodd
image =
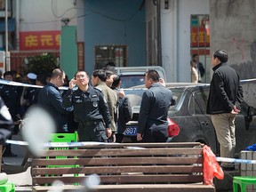
M 167 134 L 168 109 L 172 104 L 172 91 L 160 83 L 152 84 L 142 95 L 138 133 L 146 129 L 157 129 L 157 125 L 166 124 L 164 134 Z

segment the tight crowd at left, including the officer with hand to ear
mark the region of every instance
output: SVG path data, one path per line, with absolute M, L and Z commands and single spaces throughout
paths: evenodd
M 43 88 L 1 84 L 0 95 L 15 124 L 12 134 L 19 132 L 20 120 L 28 108 L 36 104 L 52 116 L 56 132 L 77 131 L 80 141 L 104 142 L 115 142 L 118 133 L 117 139 L 122 142 L 125 123 L 132 118 L 132 107 L 124 92 L 119 91 L 121 80 L 114 68 L 110 64 L 94 70 L 92 81 L 85 71 L 77 71 L 68 81 L 60 68 L 55 68 L 48 79 L 28 73 L 26 81 L 22 81 Z M 20 81 L 16 77 L 12 71 L 4 72 L 4 80 Z M 117 83 L 112 87 L 114 79 Z M 72 90 L 60 90 L 60 86 Z M 75 86 L 77 88 L 73 89 Z M 70 93 L 73 98 L 69 101 Z M 78 96 L 81 97 L 79 100 Z M 12 135 L 8 139 L 12 140 Z M 10 145 L 5 146 L 4 156 L 16 156 Z

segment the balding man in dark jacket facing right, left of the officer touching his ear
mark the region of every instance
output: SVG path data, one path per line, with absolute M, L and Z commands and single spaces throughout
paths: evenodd
M 73 110 L 73 107 L 64 108 L 59 87 L 64 84 L 65 72 L 60 68 L 52 71 L 50 82 L 45 85 L 38 95 L 38 104 L 50 113 L 54 119 L 57 132 L 68 132 L 68 123 L 65 120 L 66 114 Z

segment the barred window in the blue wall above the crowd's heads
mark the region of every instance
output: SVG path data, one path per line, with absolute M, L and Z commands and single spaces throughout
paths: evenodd
M 108 62 L 114 62 L 116 67 L 126 67 L 127 56 L 127 45 L 96 45 L 95 68 L 103 68 Z

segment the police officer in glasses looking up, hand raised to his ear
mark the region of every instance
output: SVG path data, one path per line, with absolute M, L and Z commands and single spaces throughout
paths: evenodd
M 85 71 L 77 71 L 69 82 L 68 92 L 63 97 L 65 107 L 74 107 L 75 121 L 79 123 L 77 132 L 79 141 L 107 142 L 111 136 L 111 119 L 107 101 L 100 90 L 89 83 Z M 78 86 L 76 91 L 73 90 Z

